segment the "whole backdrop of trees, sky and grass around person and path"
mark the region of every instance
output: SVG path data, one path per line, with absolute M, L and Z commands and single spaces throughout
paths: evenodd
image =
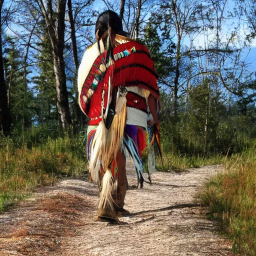
M 254 255 L 255 0 L 0 0 L 0 210 L 86 170 L 76 74 L 106 9 L 148 47 L 159 74 L 157 168 L 226 164 L 200 198 L 234 250 Z

